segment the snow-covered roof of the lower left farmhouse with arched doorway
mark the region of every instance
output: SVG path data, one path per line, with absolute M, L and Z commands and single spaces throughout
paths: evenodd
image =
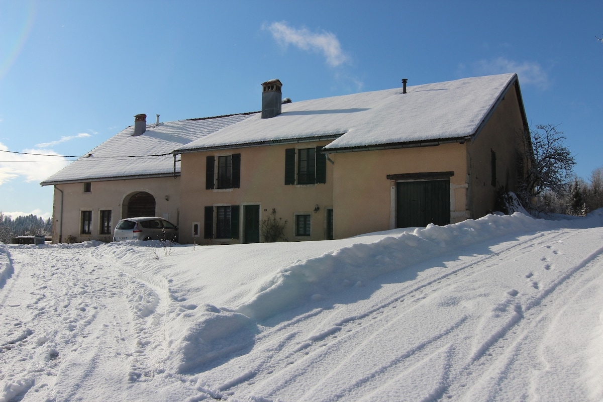
M 92 149 L 91 156 L 75 160 L 40 184 L 170 175 L 174 173 L 171 152 L 175 148 L 250 115 L 253 113 L 169 121 L 159 125 L 147 123 L 147 130 L 140 136 L 132 136 L 132 125 Z M 180 172 L 180 162 L 176 164 L 176 172 Z

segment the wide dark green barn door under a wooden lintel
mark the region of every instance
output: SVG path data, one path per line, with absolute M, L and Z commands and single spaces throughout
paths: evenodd
M 396 227 L 450 223 L 450 180 L 396 183 Z

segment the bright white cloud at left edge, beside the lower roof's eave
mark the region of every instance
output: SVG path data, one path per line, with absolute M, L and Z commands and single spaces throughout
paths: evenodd
M 0 151 L 8 151 L 8 147 L 1 142 Z M 42 181 L 69 163 L 64 157 L 58 156 L 57 152 L 48 149 L 24 149 L 23 152 L 28 154 L 0 152 L 0 185 L 17 177 L 24 177 L 25 181 Z

